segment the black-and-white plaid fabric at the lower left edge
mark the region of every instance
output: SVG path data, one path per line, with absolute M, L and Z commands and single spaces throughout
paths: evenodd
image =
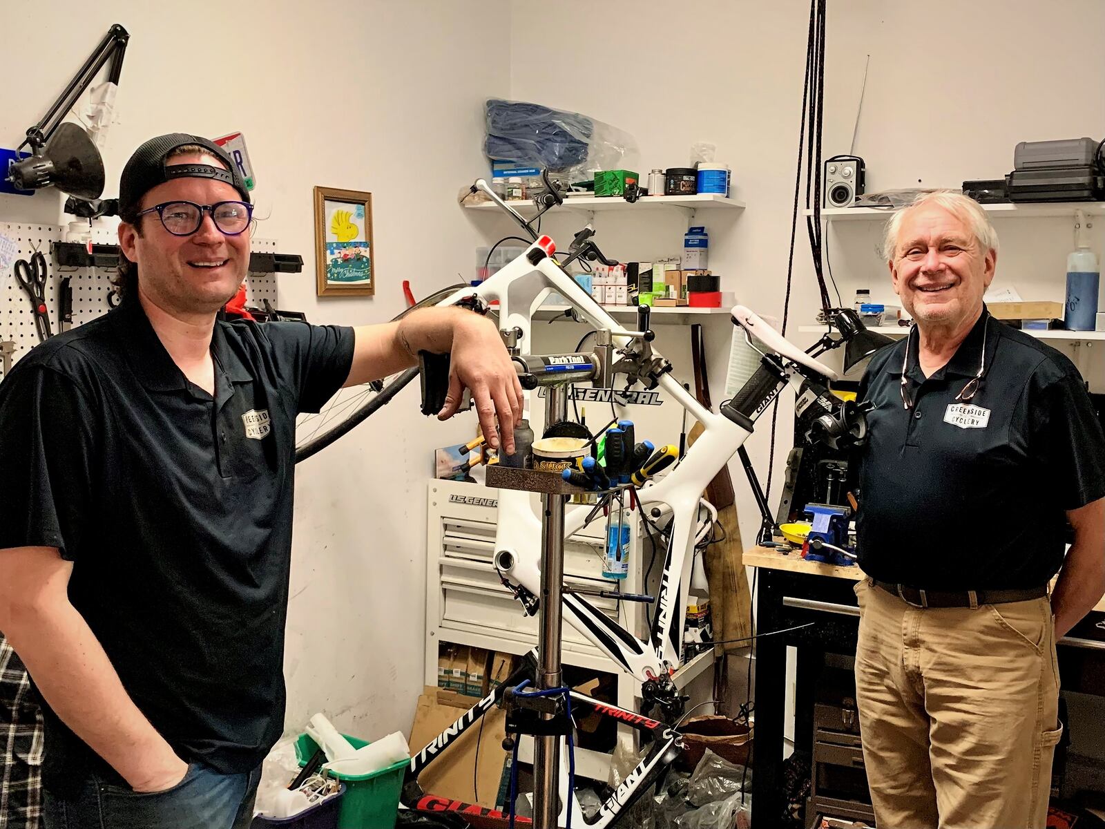
M 0 829 L 39 829 L 42 712 L 19 657 L 0 634 Z

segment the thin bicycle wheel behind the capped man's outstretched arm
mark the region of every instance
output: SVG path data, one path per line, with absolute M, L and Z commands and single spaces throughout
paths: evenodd
M 417 308 L 436 305 L 466 285 L 461 283 L 442 288 L 407 308 L 391 322 L 402 319 Z M 295 462 L 298 463 L 320 452 L 354 427 L 362 423 L 390 402 L 415 377 L 418 369 L 408 368 L 382 380 L 338 389 L 317 414 L 301 414 L 295 421 Z

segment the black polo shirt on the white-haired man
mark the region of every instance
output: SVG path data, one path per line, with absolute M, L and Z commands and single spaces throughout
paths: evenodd
M 986 369 L 969 402 L 957 402 Z M 857 553 L 864 571 L 924 589 L 1039 587 L 1063 563 L 1065 512 L 1105 496 L 1105 437 L 1077 369 L 1039 339 L 982 316 L 925 378 L 908 337 L 882 349 L 860 386 Z

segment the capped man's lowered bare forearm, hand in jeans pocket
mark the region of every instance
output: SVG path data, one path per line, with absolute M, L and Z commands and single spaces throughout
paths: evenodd
M 71 605 L 13 608 L 4 633 L 54 713 L 131 786 L 180 763 Z

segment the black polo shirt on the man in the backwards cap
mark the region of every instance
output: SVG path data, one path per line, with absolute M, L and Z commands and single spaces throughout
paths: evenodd
M 0 384 L 0 549 L 57 547 L 73 606 L 187 762 L 261 763 L 284 722 L 295 417 L 345 381 L 351 328 L 215 323 L 212 398 L 137 300 Z M 44 780 L 106 764 L 45 709 Z

